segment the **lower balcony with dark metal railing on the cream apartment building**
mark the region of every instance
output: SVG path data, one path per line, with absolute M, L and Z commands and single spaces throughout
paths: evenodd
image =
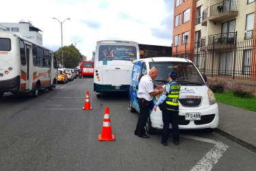
M 200 51 L 214 51 L 218 49 L 219 51 L 233 49 L 235 48 L 235 41 L 237 38 L 236 32 L 229 32 L 224 34 L 214 34 L 201 38 L 201 48 Z

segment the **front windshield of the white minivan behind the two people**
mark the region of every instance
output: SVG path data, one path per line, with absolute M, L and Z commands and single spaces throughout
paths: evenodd
M 157 68 L 158 75 L 154 79 L 155 83 L 163 85 L 168 83 L 168 74 L 175 70 L 178 73 L 176 81 L 186 86 L 203 86 L 201 75 L 196 70 L 194 64 L 190 62 L 149 62 L 149 68 Z

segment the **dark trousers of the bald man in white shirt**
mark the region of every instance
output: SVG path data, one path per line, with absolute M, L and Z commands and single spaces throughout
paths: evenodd
M 144 98 L 138 98 L 138 104 L 140 107 L 140 114 L 137 122 L 137 127 L 134 133 L 138 133 L 138 135 L 144 135 L 145 134 L 145 126 L 146 121 L 149 118 L 149 111 L 151 107 L 152 101 L 146 101 Z

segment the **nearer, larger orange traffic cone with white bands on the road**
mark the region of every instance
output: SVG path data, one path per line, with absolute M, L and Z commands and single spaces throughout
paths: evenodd
M 105 108 L 105 115 L 103 119 L 103 127 L 101 131 L 101 135 L 99 135 L 99 141 L 114 141 L 115 137 L 112 134 L 111 126 L 110 126 L 110 109 L 108 107 Z

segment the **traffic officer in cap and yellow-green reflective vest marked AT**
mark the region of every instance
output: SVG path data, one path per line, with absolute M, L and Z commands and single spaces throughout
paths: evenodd
M 157 106 L 161 105 L 164 101 L 166 103 L 166 110 L 162 111 L 162 118 L 164 122 L 164 127 L 162 131 L 162 141 L 163 146 L 167 146 L 167 140 L 169 135 L 170 122 L 172 123 L 173 131 L 173 141 L 175 145 L 179 145 L 179 91 L 181 90 L 181 85 L 175 81 L 177 78 L 177 72 L 172 70 L 168 75 L 169 83 L 167 83 L 166 88 L 159 98 L 159 101 L 154 106 L 156 111 Z

